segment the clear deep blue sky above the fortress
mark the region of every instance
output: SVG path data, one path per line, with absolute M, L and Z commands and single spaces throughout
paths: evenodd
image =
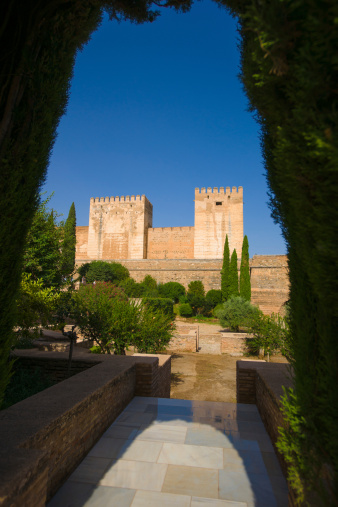
M 236 21 L 209 0 L 152 24 L 104 20 L 78 54 L 43 188 L 88 225 L 90 197 L 145 194 L 153 226 L 194 225 L 195 187 L 243 186 L 250 256 L 283 254 L 259 130 L 238 79 Z

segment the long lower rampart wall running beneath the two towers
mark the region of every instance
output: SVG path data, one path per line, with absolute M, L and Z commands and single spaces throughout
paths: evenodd
M 221 288 L 222 259 L 114 260 L 126 266 L 137 282 L 151 275 L 157 282 L 179 282 L 186 288 L 193 280 L 201 280 L 206 291 Z M 78 264 L 84 262 L 88 259 L 77 261 Z M 266 314 L 279 312 L 289 299 L 286 256 L 255 255 L 250 259 L 250 271 L 251 302 Z

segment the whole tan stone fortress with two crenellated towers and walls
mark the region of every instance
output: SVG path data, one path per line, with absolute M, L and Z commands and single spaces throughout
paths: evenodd
M 243 188 L 195 189 L 194 227 L 152 227 L 153 206 L 145 195 L 91 198 L 89 226 L 77 227 L 76 262 L 117 261 L 136 281 L 150 274 L 158 282 L 188 286 L 201 280 L 220 289 L 225 237 L 240 258 Z M 249 238 L 250 242 L 250 238 Z M 252 302 L 265 313 L 281 311 L 288 299 L 285 255 L 250 260 Z

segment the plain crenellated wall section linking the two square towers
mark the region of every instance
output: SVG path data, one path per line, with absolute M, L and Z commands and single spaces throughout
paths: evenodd
M 147 259 L 193 259 L 193 227 L 148 229 Z

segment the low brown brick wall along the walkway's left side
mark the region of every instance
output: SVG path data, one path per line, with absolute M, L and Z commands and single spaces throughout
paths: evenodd
M 36 351 L 17 355 L 26 365 L 29 358 L 34 365 L 43 357 L 61 365 L 67 356 Z M 90 366 L 0 412 L 3 507 L 44 506 L 136 393 L 170 396 L 170 356 L 83 354 L 77 361 Z

